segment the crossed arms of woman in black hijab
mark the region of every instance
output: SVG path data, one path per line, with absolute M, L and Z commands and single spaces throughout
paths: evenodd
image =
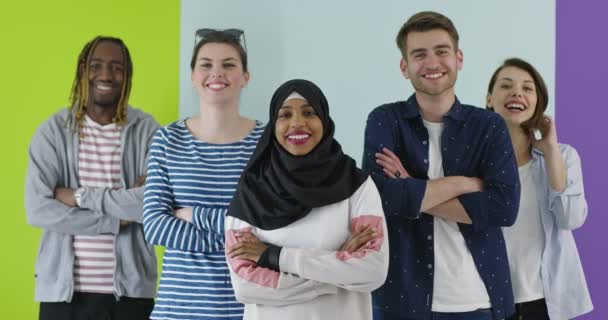
M 279 270 L 257 264 L 266 245 L 256 237 L 256 229 L 228 217 L 226 254 L 237 299 L 280 306 L 336 294 L 338 288 L 371 292 L 382 285 L 388 272 L 386 223 L 380 196 L 369 182 L 371 196 L 351 205 L 350 236 L 337 251 L 283 247 Z

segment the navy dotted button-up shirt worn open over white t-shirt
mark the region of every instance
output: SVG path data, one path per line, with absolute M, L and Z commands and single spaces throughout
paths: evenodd
M 472 220 L 458 224 L 483 280 L 495 319 L 514 312 L 509 264 L 500 227 L 515 222 L 519 174 L 511 139 L 493 112 L 454 102 L 443 117 L 441 156 L 445 176 L 483 180 L 483 191 L 458 197 Z M 425 318 L 433 297 L 433 216 L 420 213 L 429 166 L 428 131 L 415 95 L 372 111 L 365 129 L 363 169 L 382 196 L 391 246 L 386 283 L 373 293 L 374 308 L 401 317 Z M 411 175 L 391 179 L 375 153 L 392 150 Z

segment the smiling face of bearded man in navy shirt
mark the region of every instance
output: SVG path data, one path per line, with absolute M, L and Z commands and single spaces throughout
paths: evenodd
M 410 79 L 418 94 L 454 94 L 454 83 L 458 70 L 462 68 L 463 56 L 447 31 L 410 32 L 406 48 L 406 56 L 401 59 L 401 72 Z

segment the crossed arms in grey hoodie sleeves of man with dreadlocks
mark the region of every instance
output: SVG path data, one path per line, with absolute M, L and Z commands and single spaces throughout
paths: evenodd
M 57 187 L 69 183 L 64 163 L 55 158 L 65 152 L 65 146 L 57 144 L 59 134 L 45 123 L 30 143 L 25 179 L 28 223 L 53 232 L 97 235 L 118 233 L 121 220 L 140 222 L 143 187 L 91 190 L 81 206 L 76 206 L 74 189 Z

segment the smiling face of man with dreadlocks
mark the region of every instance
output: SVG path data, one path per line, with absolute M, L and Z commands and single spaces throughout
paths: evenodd
M 100 42 L 89 63 L 89 101 L 94 107 L 116 108 L 125 79 L 122 48 L 110 41 Z

